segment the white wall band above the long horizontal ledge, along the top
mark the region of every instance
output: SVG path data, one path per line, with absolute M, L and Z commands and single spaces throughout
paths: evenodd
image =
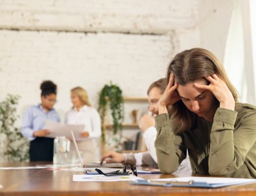
M 197 0 L 2 0 L 0 28 L 165 33 L 196 16 Z

